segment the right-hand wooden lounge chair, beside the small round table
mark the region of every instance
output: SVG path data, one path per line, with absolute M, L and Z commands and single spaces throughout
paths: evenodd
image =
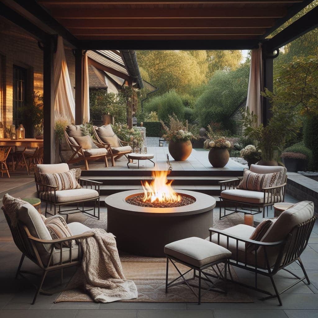
M 122 156 L 125 156 L 129 161 L 127 154 L 132 151 L 130 146 L 132 143 L 120 140 L 110 124 L 101 127 L 93 126 L 93 132 L 96 140 L 106 147 L 108 152 L 107 158 L 111 159 L 112 166 L 115 165 L 115 160 Z

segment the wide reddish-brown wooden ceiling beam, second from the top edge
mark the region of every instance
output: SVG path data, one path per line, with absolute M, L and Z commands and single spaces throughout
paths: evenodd
M 66 8 L 52 8 L 52 16 L 56 19 L 201 19 L 201 18 L 281 18 L 286 14 L 283 8 L 269 8 L 269 9 L 239 9 L 229 10 L 224 8 L 216 9 L 167 9 L 160 8 L 160 10 L 143 8 L 143 9 L 66 9 Z M 118 23 L 120 23 L 118 21 Z

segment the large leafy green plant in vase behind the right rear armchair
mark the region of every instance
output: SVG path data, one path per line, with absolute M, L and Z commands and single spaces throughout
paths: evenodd
M 295 137 L 301 126 L 300 118 L 290 109 L 279 106 L 271 107 L 272 117 L 264 127 L 257 126 L 257 115 L 249 109 L 242 111 L 244 135 L 256 142 L 256 149 L 261 150 L 259 165 L 277 166 L 278 158 L 286 141 Z

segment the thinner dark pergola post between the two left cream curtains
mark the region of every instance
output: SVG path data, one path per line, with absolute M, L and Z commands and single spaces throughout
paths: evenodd
M 83 51 L 75 50 L 75 125 L 83 123 Z

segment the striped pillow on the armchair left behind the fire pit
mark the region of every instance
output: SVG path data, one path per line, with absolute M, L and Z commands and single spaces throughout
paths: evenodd
M 81 188 L 71 170 L 60 173 L 40 173 L 40 178 L 43 184 L 57 187 L 57 191 Z

